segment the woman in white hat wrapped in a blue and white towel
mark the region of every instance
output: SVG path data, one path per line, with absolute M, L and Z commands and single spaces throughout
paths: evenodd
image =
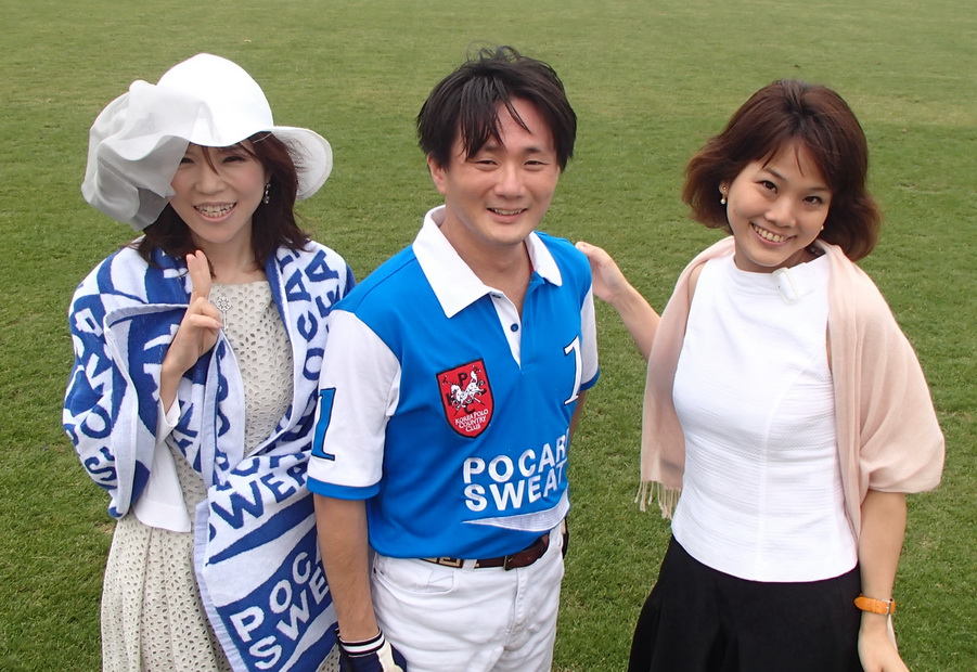
M 105 670 L 314 670 L 335 641 L 305 488 L 326 318 L 353 285 L 295 222 L 329 177 L 237 65 L 134 82 L 82 194 L 142 235 L 79 285 L 63 423 L 118 519 Z

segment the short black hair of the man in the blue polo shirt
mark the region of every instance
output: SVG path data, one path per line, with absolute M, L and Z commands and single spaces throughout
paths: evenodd
M 547 120 L 560 169 L 574 155 L 577 115 L 556 72 L 542 61 L 522 55 L 512 47 L 481 49 L 438 82 L 417 115 L 417 139 L 424 154 L 447 167 L 455 138 L 465 156 L 499 138 L 499 104 L 525 128 L 513 100 L 531 103 Z

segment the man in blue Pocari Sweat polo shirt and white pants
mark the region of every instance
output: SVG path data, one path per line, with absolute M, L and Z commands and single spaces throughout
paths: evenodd
M 309 489 L 348 670 L 551 668 L 597 356 L 589 263 L 536 228 L 576 127 L 549 65 L 463 64 L 417 116 L 445 205 L 333 309 Z

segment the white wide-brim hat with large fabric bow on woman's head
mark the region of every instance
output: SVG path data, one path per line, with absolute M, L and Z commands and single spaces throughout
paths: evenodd
M 191 142 L 226 147 L 268 131 L 291 150 L 301 201 L 333 168 L 319 133 L 275 126 L 268 99 L 235 63 L 197 54 L 171 67 L 155 85 L 139 80 L 112 101 L 89 133 L 81 194 L 92 207 L 142 231 L 173 195 L 170 186 Z

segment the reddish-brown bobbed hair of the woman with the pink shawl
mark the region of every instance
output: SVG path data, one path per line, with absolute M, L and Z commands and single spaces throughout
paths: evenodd
M 750 163 L 769 160 L 799 143 L 831 190 L 820 238 L 841 247 L 852 260 L 872 251 L 882 214 L 867 191 L 869 146 L 848 104 L 827 87 L 782 79 L 754 93 L 721 133 L 689 161 L 682 199 L 691 217 L 729 229 L 719 185 L 732 182 Z

